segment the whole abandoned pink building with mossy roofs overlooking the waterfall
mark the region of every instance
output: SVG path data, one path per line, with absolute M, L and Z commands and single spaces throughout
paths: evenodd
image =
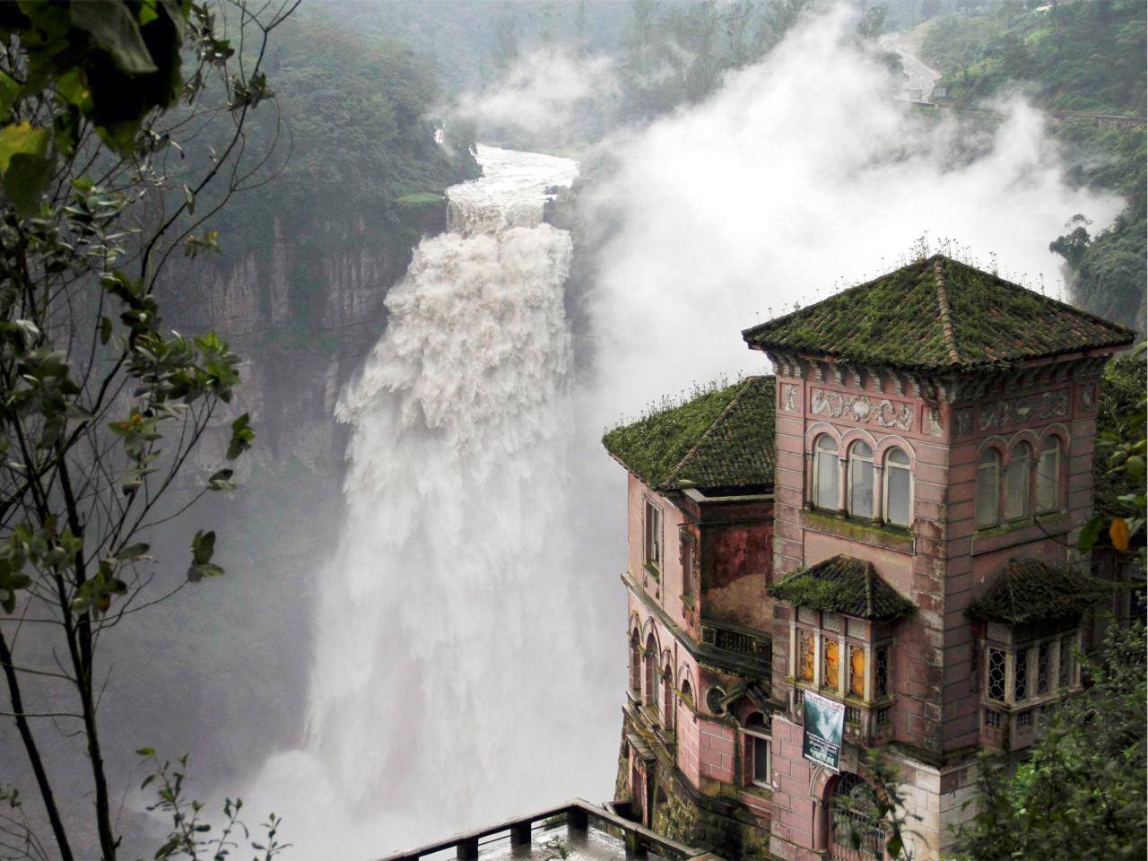
M 1079 684 L 1097 379 L 1134 333 L 936 256 L 743 338 L 774 375 L 604 439 L 616 808 L 727 858 L 882 859 L 853 791 L 877 750 L 936 859 L 978 752 L 1023 755 Z

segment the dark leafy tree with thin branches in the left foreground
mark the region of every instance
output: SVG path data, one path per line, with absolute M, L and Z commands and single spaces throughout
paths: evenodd
M 95 836 L 101 858 L 119 850 L 96 714 L 108 672 L 99 645 L 183 587 L 147 591 L 154 536 L 232 486 L 220 470 L 189 502 L 169 502 L 230 408 L 239 358 L 212 333 L 164 328 L 155 286 L 249 176 L 243 126 L 273 98 L 263 52 L 289 13 L 230 10 L 231 31 L 256 46 L 240 63 L 216 36 L 224 13 L 207 6 L 76 0 L 0 11 L 0 668 L 63 859 L 95 856 L 72 846 L 79 833 Z M 191 107 L 176 110 L 179 96 Z M 212 117 L 225 131 L 204 131 Z M 204 141 L 215 147 L 197 152 Z M 226 457 L 253 439 L 240 417 Z M 187 581 L 223 574 L 214 552 L 214 533 L 197 533 Z M 36 635 L 22 633 L 29 625 Z M 55 661 L 41 664 L 45 654 Z M 29 689 L 29 676 L 56 688 Z M 45 705 L 25 705 L 29 693 Z M 40 719 L 84 742 L 91 785 L 75 813 L 91 817 L 84 825 L 68 822 L 40 753 L 44 731 L 55 730 L 33 726 Z

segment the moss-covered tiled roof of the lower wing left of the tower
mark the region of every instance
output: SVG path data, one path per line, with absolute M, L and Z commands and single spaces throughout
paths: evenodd
M 615 428 L 606 451 L 659 490 L 774 482 L 774 378 L 750 377 Z

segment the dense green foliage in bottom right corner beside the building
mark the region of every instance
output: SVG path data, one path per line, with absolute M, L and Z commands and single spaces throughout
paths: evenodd
M 985 757 L 963 858 L 1141 859 L 1146 841 L 1145 626 L 1115 625 L 1083 658 L 1091 685 L 1065 700 L 1029 761 L 1009 774 Z

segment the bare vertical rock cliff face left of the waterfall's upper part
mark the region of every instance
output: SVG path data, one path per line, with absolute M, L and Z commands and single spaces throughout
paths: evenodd
M 377 227 L 356 218 L 346 235 L 287 230 L 234 255 L 173 262 L 162 305 L 178 331 L 214 329 L 243 358 L 238 412 L 258 445 L 245 472 L 288 458 L 325 478 L 341 475 L 339 391 L 387 320 L 385 301 L 421 235 L 445 228 L 445 201 Z

